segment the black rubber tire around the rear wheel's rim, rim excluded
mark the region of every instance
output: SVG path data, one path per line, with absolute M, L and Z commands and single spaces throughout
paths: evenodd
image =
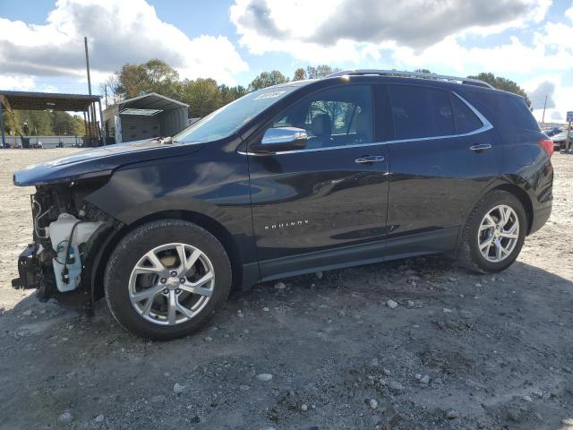
M 479 250 L 477 233 L 483 217 L 500 204 L 508 205 L 516 212 L 517 219 L 519 220 L 519 235 L 517 236 L 517 244 L 513 251 L 511 251 L 504 260 L 501 262 L 490 262 L 483 257 Z M 512 193 L 501 190 L 493 191 L 475 205 L 474 210 L 470 213 L 466 221 L 458 251 L 458 265 L 478 273 L 497 273 L 504 271 L 515 262 L 517 255 L 521 252 L 521 247 L 526 239 L 526 231 L 526 210 L 519 199 Z

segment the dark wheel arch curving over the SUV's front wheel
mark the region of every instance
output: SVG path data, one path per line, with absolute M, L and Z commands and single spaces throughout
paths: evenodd
M 156 221 L 158 219 L 181 219 L 192 222 L 193 224 L 196 224 L 197 226 L 209 231 L 210 234 L 215 236 L 221 245 L 223 245 L 229 257 L 229 261 L 231 262 L 233 279 L 233 284 L 231 286 L 232 290 L 241 288 L 243 280 L 243 261 L 241 259 L 241 254 L 235 239 L 227 230 L 227 228 L 225 228 L 217 220 L 212 219 L 200 212 L 169 210 L 158 211 L 141 217 L 140 219 L 136 219 L 131 224 L 124 225 L 122 228 L 114 230 L 109 236 L 107 236 L 106 240 L 101 244 L 102 248 L 98 251 L 98 256 L 96 256 L 94 259 L 94 267 L 91 268 L 90 285 L 92 300 L 98 300 L 105 295 L 103 280 L 107 261 L 119 241 L 129 232 L 133 231 L 133 229 L 138 228 L 147 222 Z

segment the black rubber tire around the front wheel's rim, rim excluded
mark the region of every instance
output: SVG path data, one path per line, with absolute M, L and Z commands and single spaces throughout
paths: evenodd
M 129 280 L 141 256 L 159 245 L 184 243 L 206 254 L 215 271 L 213 293 L 199 314 L 184 323 L 158 325 L 151 323 L 133 307 Z M 115 320 L 126 330 L 151 340 L 173 340 L 198 331 L 227 300 L 231 289 L 231 264 L 223 245 L 207 230 L 179 219 L 151 221 L 129 232 L 115 246 L 107 262 L 104 288 L 107 305 Z

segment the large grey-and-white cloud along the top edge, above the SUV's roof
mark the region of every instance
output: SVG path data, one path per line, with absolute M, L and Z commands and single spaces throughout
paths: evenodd
M 551 0 L 235 0 L 230 16 L 252 53 L 288 51 L 305 58 L 309 49 L 323 48 L 334 56 L 343 43 L 356 44 L 358 51 L 363 44 L 385 43 L 421 50 L 461 32 L 540 22 L 550 5 Z

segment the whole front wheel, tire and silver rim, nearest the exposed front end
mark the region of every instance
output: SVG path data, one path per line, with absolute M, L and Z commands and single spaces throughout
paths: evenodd
M 173 340 L 201 329 L 227 300 L 231 282 L 231 264 L 215 236 L 191 222 L 164 219 L 135 228 L 115 246 L 104 288 L 111 313 L 126 330 Z M 153 298 L 136 301 L 141 293 Z

